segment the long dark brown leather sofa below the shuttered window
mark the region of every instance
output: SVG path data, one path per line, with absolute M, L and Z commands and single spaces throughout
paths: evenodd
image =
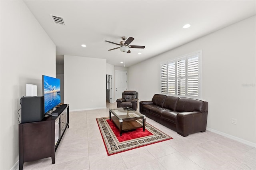
M 185 137 L 205 132 L 208 102 L 155 94 L 151 101 L 140 101 L 140 113 Z

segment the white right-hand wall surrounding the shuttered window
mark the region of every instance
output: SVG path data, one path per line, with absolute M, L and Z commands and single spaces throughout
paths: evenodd
M 152 59 L 129 67 L 129 89 L 140 101 L 159 91 L 159 63 L 202 49 L 202 99 L 208 101 L 209 130 L 256 146 L 256 18 L 251 17 Z M 231 119 L 237 119 L 237 125 Z

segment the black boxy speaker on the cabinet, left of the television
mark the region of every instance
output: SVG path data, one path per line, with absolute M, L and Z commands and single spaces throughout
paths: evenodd
M 38 122 L 44 118 L 44 96 L 21 98 L 21 123 Z

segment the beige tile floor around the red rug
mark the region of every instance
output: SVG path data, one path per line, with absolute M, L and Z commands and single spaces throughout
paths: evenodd
M 107 104 L 115 108 L 116 103 Z M 213 132 L 182 137 L 155 121 L 146 122 L 173 139 L 107 156 L 96 118 L 108 109 L 70 112 L 70 128 L 51 158 L 25 162 L 24 170 L 255 170 L 256 148 Z

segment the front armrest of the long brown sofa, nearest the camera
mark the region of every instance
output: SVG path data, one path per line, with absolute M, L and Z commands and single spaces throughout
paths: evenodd
M 196 132 L 205 132 L 208 112 L 181 112 L 177 115 L 176 129 L 182 136 Z

